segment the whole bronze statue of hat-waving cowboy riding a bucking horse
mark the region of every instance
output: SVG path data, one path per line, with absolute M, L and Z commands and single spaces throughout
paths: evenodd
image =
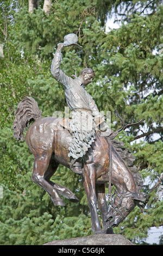
M 54 205 L 64 205 L 59 194 L 72 202 L 78 202 L 78 199 L 68 188 L 52 182 L 51 176 L 59 164 L 80 174 L 90 207 L 93 233 L 112 233 L 112 227 L 120 224 L 135 205 L 143 206 L 145 197 L 140 191 L 143 182 L 133 166 L 135 158 L 123 148 L 124 143 L 115 139 L 119 131 L 108 129 L 92 97 L 86 93 L 84 87 L 92 81 L 94 72 L 83 70 L 79 77 L 73 79 L 59 68 L 62 48 L 77 45 L 77 40 L 71 38 L 72 35 L 66 36 L 64 44 L 58 45 L 52 62 L 52 75 L 65 86 L 67 104 L 74 112 L 72 119 L 65 122 L 57 117 L 41 118 L 37 102 L 32 97 L 25 97 L 17 108 L 14 137 L 22 141 L 23 131 L 34 120 L 26 133 L 26 143 L 34 155 L 32 180 L 49 193 Z M 81 125 L 81 113 L 84 125 L 76 131 Z M 87 121 L 91 123 L 90 130 L 84 129 Z M 80 147 L 76 147 L 78 143 Z M 111 207 L 105 197 L 108 182 Z M 117 189 L 115 197 L 111 197 L 111 184 Z M 97 201 L 103 230 L 98 219 Z

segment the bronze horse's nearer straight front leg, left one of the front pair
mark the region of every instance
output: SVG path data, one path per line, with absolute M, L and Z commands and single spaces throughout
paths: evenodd
M 85 188 L 87 201 L 91 212 L 91 225 L 94 234 L 103 234 L 104 231 L 99 223 L 97 214 L 97 197 L 95 188 L 96 169 L 93 164 L 87 164 L 84 167 L 84 174 L 82 174 L 83 185 Z

